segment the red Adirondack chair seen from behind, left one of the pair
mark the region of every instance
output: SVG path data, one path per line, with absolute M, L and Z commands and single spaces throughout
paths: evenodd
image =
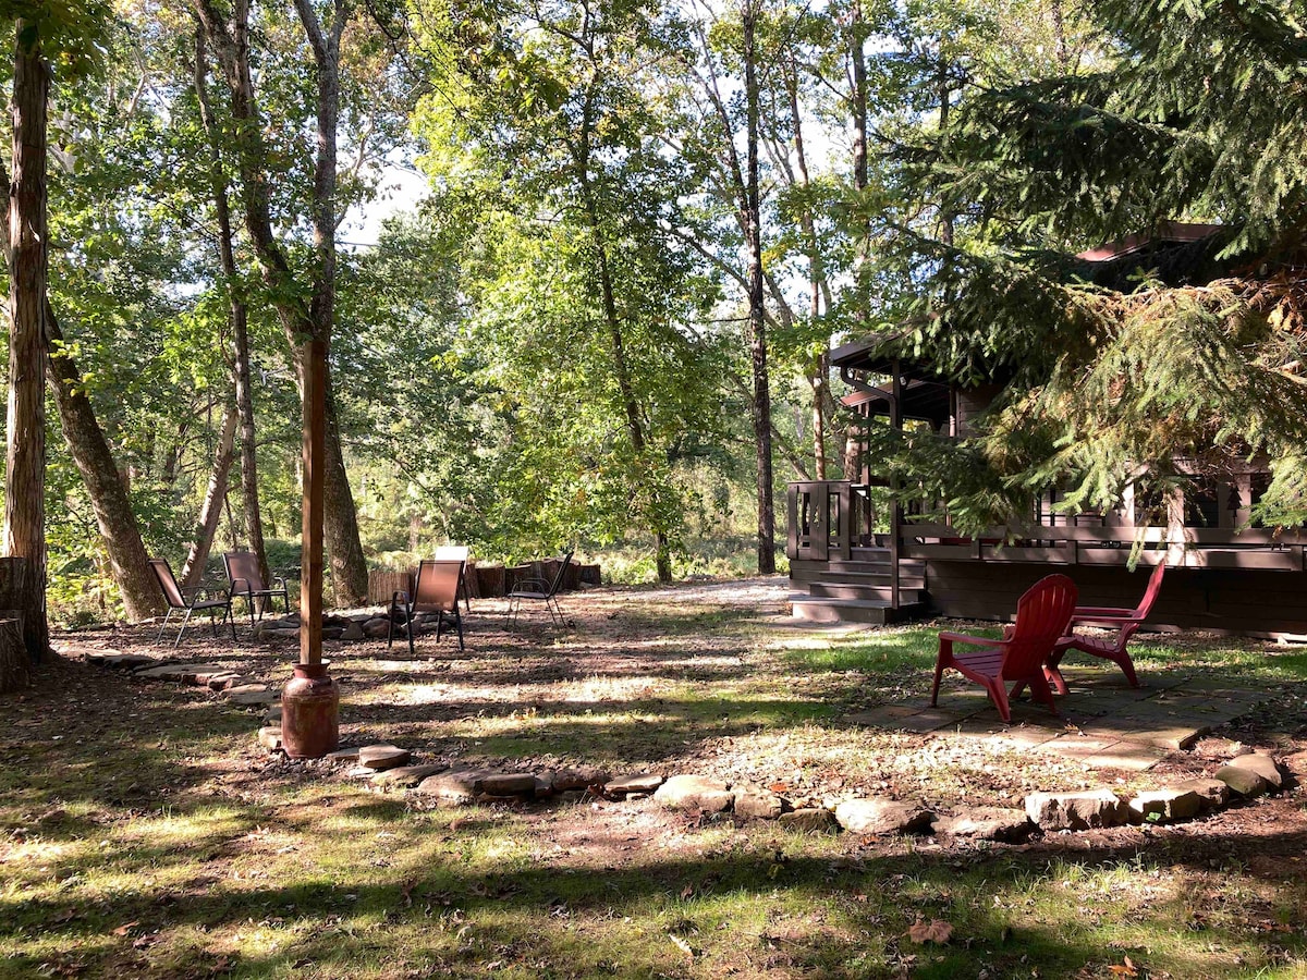
M 1013 685 L 1013 696 L 1029 683 L 1031 694 L 1056 715 L 1053 693 L 1044 678 L 1044 662 L 1067 632 L 1067 623 L 1076 608 L 1076 583 L 1065 575 L 1048 575 L 1031 585 L 1017 602 L 1017 622 L 1002 639 L 941 632 L 931 706 L 938 703 L 940 678 L 946 668 L 951 668 L 985 689 L 1004 721 L 1012 721 L 1006 691 L 1009 683 Z M 954 653 L 954 643 L 974 644 L 984 649 Z

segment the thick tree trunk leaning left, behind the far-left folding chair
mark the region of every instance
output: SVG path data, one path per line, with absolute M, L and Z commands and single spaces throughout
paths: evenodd
M 110 572 L 123 596 L 127 618 L 148 619 L 161 612 L 162 601 L 158 581 L 150 572 L 136 514 L 132 512 L 131 498 L 118 476 L 108 440 L 95 421 L 95 410 L 81 388 L 81 372 L 63 348 L 64 337 L 48 304 L 46 323 L 51 340 L 46 371 L 59 409 L 64 442 L 86 483 L 95 524 L 99 525 L 99 534 L 108 553 Z

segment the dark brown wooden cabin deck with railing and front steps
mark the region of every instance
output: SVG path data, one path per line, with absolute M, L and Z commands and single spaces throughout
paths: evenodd
M 857 487 L 791 485 L 789 578 L 795 615 L 893 623 L 920 615 L 1004 621 L 1021 593 L 1052 571 L 1081 605 L 1133 606 L 1148 568 L 1171 564 L 1149 619 L 1155 630 L 1200 629 L 1307 638 L 1307 536 L 1260 528 L 1031 525 L 978 540 L 942 524 L 904 524 L 898 541 L 859 532 Z M 1001 541 L 1014 538 L 1012 544 Z M 1136 542 L 1146 550 L 1129 571 Z M 895 583 L 897 579 L 897 583 Z M 897 601 L 895 601 L 897 584 Z

